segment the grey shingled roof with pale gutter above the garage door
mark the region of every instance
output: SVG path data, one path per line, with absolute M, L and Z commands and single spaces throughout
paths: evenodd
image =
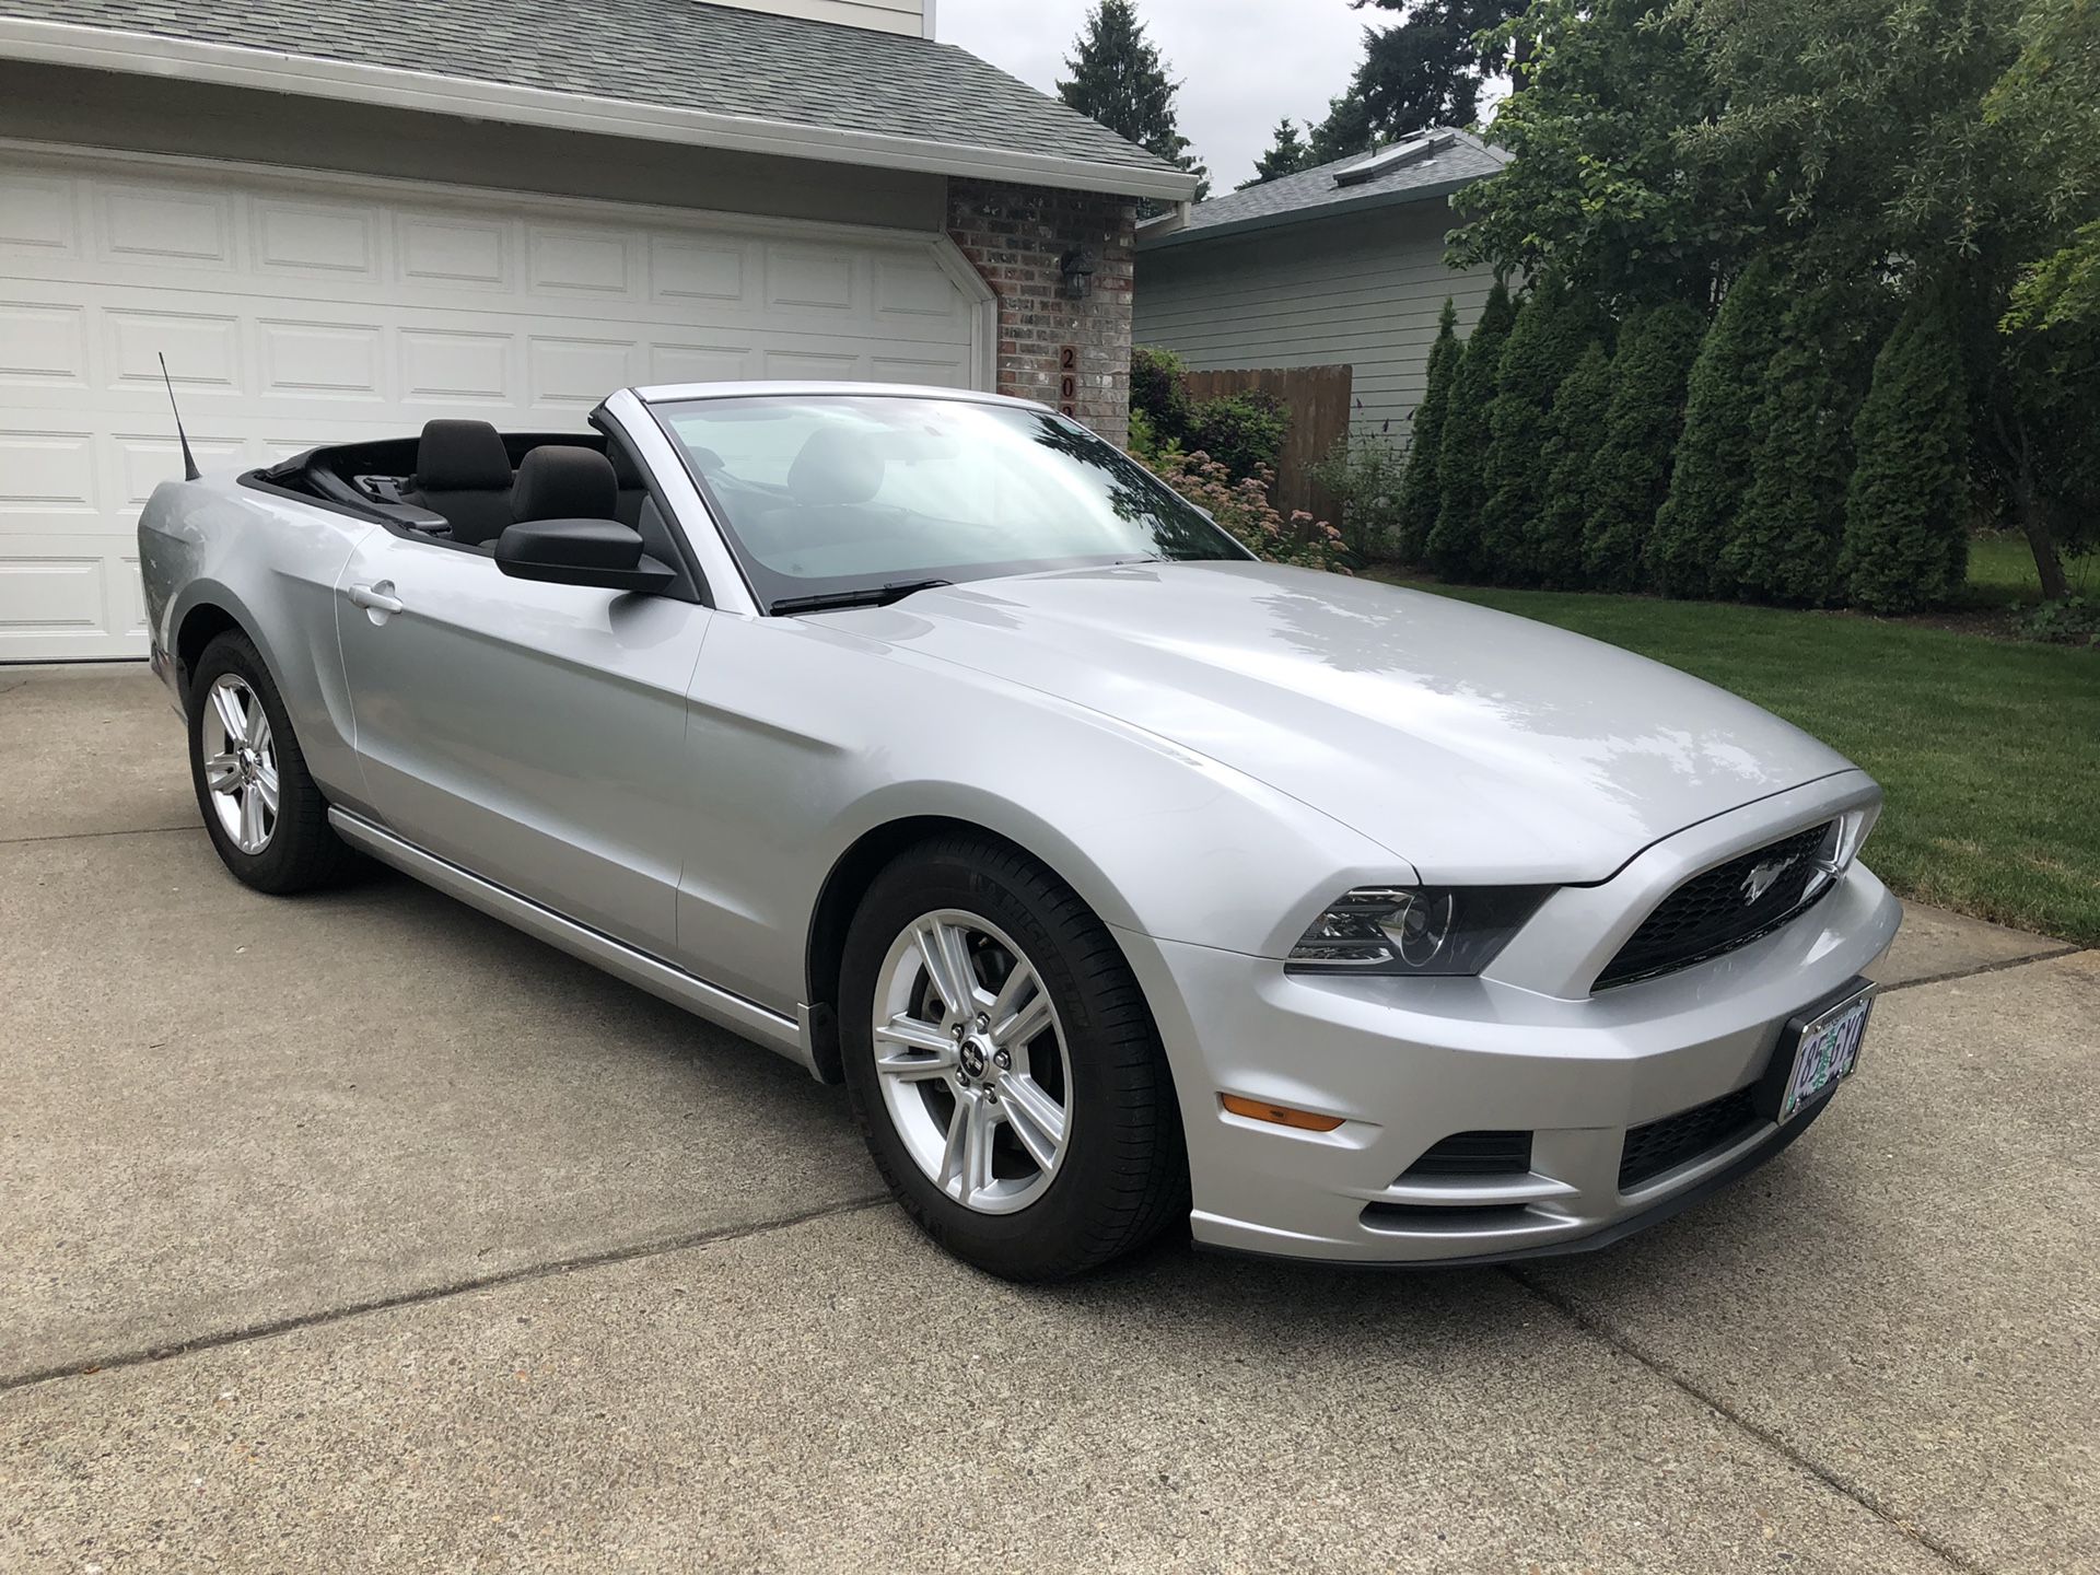
M 842 164 L 1186 200 L 974 55 L 697 0 L 8 0 L 0 57 Z

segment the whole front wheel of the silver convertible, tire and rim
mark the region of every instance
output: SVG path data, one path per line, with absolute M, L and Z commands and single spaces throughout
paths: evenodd
M 1186 1210 L 1174 1084 L 1136 979 L 1027 857 L 976 838 L 903 855 L 861 903 L 840 985 L 869 1151 L 958 1258 L 1063 1279 Z

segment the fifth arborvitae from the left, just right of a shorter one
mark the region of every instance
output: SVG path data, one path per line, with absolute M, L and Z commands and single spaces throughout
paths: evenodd
M 1590 466 L 1596 506 L 1583 525 L 1581 565 L 1604 590 L 1642 590 L 1655 514 L 1670 496 L 1670 462 L 1684 430 L 1684 382 L 1705 317 L 1680 300 L 1640 313 L 1621 330 L 1611 363 L 1604 441 Z

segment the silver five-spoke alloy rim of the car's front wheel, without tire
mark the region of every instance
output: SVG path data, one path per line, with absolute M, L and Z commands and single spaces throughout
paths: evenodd
M 924 914 L 882 962 L 874 1012 L 882 1105 L 953 1201 L 1012 1214 L 1071 1147 L 1071 1056 L 1035 964 L 989 920 Z

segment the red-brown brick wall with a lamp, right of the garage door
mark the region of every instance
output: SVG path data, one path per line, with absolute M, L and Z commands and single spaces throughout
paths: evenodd
M 1000 296 L 998 391 L 1067 410 L 1117 445 L 1130 433 L 1136 212 L 1130 197 L 947 183 L 947 233 Z M 1056 267 L 1075 246 L 1094 258 L 1086 300 L 1065 298 Z

